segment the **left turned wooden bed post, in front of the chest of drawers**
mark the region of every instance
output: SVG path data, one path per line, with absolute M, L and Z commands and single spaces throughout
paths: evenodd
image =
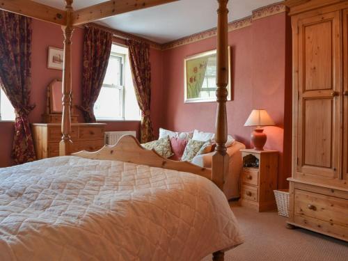
M 64 63 L 63 63 L 63 116 L 62 116 L 62 140 L 59 143 L 59 155 L 65 156 L 69 155 L 71 152 L 72 141 L 70 139 L 71 131 L 71 119 L 70 119 L 70 109 L 71 109 L 71 93 L 72 93 L 72 68 L 71 68 L 71 38 L 74 27 L 72 26 L 72 1 L 65 0 L 66 6 L 66 16 L 67 24 L 62 26 L 64 33 Z

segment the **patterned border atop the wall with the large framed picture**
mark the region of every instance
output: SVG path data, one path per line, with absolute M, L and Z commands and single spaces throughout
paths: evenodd
M 251 26 L 253 24 L 253 21 L 256 19 L 261 19 L 264 17 L 269 17 L 271 15 L 276 15 L 278 13 L 285 12 L 286 6 L 284 5 L 284 1 L 281 1 L 279 3 L 274 3 L 269 6 L 264 6 L 262 8 L 258 8 L 256 10 L 253 10 L 253 15 L 249 17 L 244 17 L 242 19 L 239 19 L 237 21 L 230 22 L 228 24 L 228 31 L 235 31 L 238 29 L 242 29 L 247 26 Z M 193 42 L 198 42 L 200 40 L 205 40 L 207 38 L 212 38 L 216 36 L 216 28 L 209 29 L 207 31 L 203 31 L 200 33 L 195 33 L 193 35 L 186 36 L 184 38 L 180 38 L 178 40 L 174 40 L 172 42 L 167 42 L 161 45 L 162 50 L 168 50 L 173 49 L 176 47 L 180 47 L 182 45 L 188 45 Z

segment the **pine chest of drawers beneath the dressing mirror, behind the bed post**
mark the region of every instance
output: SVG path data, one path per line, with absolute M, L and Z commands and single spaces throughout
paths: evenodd
M 104 123 L 72 123 L 72 152 L 95 151 L 104 146 Z M 34 148 L 38 159 L 59 156 L 61 123 L 33 123 Z

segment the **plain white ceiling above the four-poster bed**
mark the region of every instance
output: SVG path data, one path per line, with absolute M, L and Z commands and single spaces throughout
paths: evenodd
M 63 9 L 63 0 L 35 0 Z M 74 0 L 74 10 L 105 0 Z M 279 0 L 230 0 L 228 22 L 251 15 L 262 6 Z M 216 27 L 216 0 L 180 0 L 161 6 L 136 10 L 98 21 L 98 24 L 164 43 Z

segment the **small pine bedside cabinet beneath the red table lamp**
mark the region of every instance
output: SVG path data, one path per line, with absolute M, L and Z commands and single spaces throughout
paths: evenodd
M 276 209 L 274 189 L 278 184 L 278 151 L 241 150 L 243 158 L 242 193 L 239 204 L 258 212 Z M 246 156 L 258 159 L 258 166 L 246 167 Z M 250 157 L 250 156 L 248 156 Z

